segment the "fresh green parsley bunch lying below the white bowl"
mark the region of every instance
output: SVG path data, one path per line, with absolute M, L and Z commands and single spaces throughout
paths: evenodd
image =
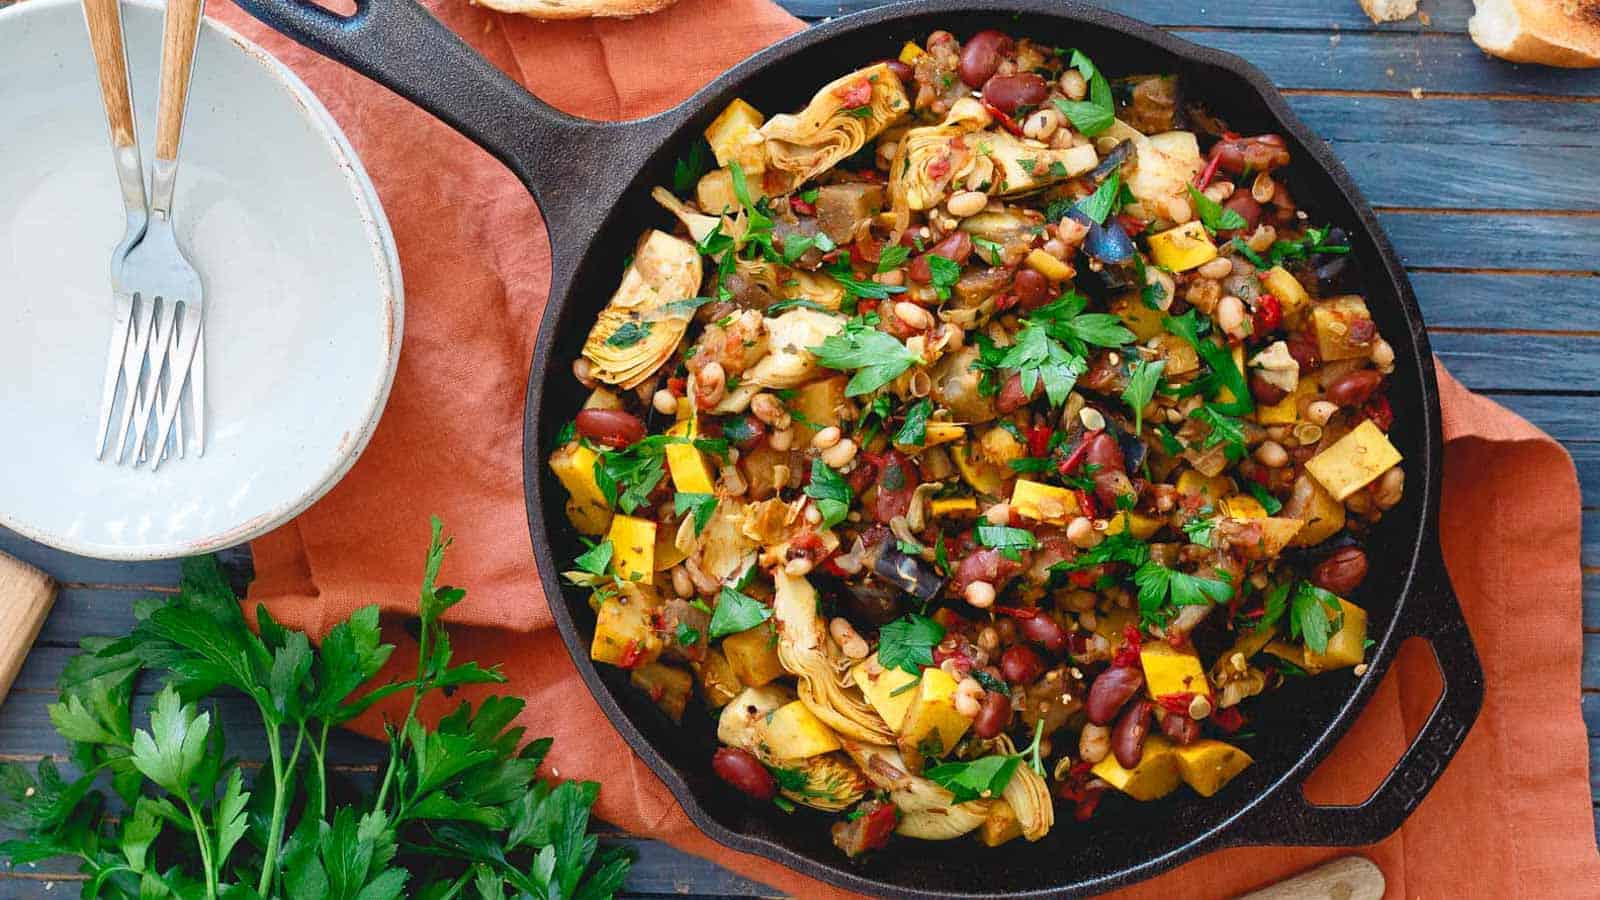
M 520 698 L 461 703 L 435 727 L 418 717 L 427 695 L 506 681 L 498 668 L 451 665 L 440 617 L 464 591 L 435 585 L 446 546 L 435 519 L 416 671 L 386 684 L 373 684 L 394 652 L 376 605 L 315 649 L 264 607 L 253 633 L 214 557 L 186 560 L 176 596 L 141 602 L 126 637 L 85 639 L 61 674 L 50 721 L 82 775 L 48 757 L 37 777 L 0 765 L 0 823 L 21 833 L 0 855 L 11 865 L 75 857 L 85 895 L 141 900 L 613 895 L 630 860 L 597 852 L 587 834 L 600 786 L 538 777 L 550 741 L 520 746 L 523 730 L 509 727 Z M 147 725 L 134 727 L 134 682 L 147 671 L 166 684 Z M 248 775 L 202 708 L 224 689 L 261 713 L 267 761 Z M 376 786 L 336 791 L 330 730 L 406 693 Z M 125 810 L 109 809 L 101 777 Z

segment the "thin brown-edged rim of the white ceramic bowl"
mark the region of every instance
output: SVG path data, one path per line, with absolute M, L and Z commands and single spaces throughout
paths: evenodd
M 163 10 L 163 3 L 157 0 L 123 0 L 123 3 L 149 11 Z M 27 3 L 13 3 L 11 6 L 0 8 L 0 32 L 3 32 L 6 24 L 13 19 L 62 14 L 62 8 L 69 6 L 78 8 L 78 3 L 75 0 L 29 0 Z M 333 487 L 339 484 L 339 480 L 350 471 L 350 466 L 355 464 L 362 452 L 366 448 L 368 440 L 371 440 L 373 432 L 378 429 L 378 421 L 382 418 L 384 407 L 389 402 L 389 392 L 394 388 L 395 370 L 400 362 L 400 344 L 405 330 L 405 283 L 400 271 L 400 253 L 395 247 L 394 232 L 389 227 L 389 218 L 384 215 L 382 202 L 378 197 L 378 189 L 366 175 L 366 168 L 362 165 L 355 147 L 350 146 L 344 130 L 339 128 L 333 114 L 328 112 L 328 107 L 322 104 L 322 99 L 317 98 L 310 86 L 307 86 L 306 82 L 302 82 L 288 66 L 267 53 L 266 48 L 214 18 L 203 16 L 200 26 L 227 42 L 234 51 L 251 59 L 282 91 L 288 93 L 294 99 L 294 106 L 301 117 L 307 125 L 310 125 L 312 131 L 322 138 L 323 144 L 331 152 L 331 163 L 338 167 L 344 184 L 349 189 L 350 199 L 355 200 L 355 210 L 362 219 L 362 229 L 365 231 L 366 245 L 371 251 L 371 274 L 382 295 L 379 315 L 387 323 L 389 333 L 389 346 L 384 351 L 384 372 L 373 384 L 374 389 L 366 399 L 366 412 L 365 416 L 362 416 L 362 426 L 354 429 L 349 437 L 339 444 L 331 463 L 315 474 L 315 480 L 309 479 L 310 484 L 296 498 L 283 501 L 266 512 L 251 516 L 243 522 L 221 528 L 216 533 L 184 541 L 112 544 L 85 541 L 70 533 L 42 528 L 19 519 L 6 509 L 0 509 L 0 527 L 10 528 L 32 541 L 78 556 L 122 562 L 146 562 L 181 556 L 198 556 L 254 540 L 299 516 L 310 508 L 312 503 L 322 500 L 323 495 L 333 490 Z

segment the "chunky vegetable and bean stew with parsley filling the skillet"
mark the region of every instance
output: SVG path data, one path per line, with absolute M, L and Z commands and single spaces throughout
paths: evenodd
M 1354 689 L 1395 354 L 1286 141 L 1186 88 L 941 30 L 654 189 L 549 464 L 592 658 L 702 703 L 728 791 L 851 857 L 1038 841 Z

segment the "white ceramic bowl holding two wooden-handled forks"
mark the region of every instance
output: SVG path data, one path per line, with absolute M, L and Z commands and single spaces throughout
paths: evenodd
M 149 163 L 160 6 L 125 2 L 123 29 Z M 205 22 L 174 223 L 205 282 L 206 452 L 96 461 L 123 213 L 82 8 L 0 10 L 0 525 L 157 559 L 283 524 L 360 455 L 400 356 L 400 263 L 360 160 L 299 78 Z

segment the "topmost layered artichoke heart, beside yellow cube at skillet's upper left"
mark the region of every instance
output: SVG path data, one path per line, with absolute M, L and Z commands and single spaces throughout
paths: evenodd
M 864 147 L 909 110 L 906 86 L 885 62 L 824 85 L 798 114 L 774 115 L 762 127 L 768 187 L 794 191 Z

